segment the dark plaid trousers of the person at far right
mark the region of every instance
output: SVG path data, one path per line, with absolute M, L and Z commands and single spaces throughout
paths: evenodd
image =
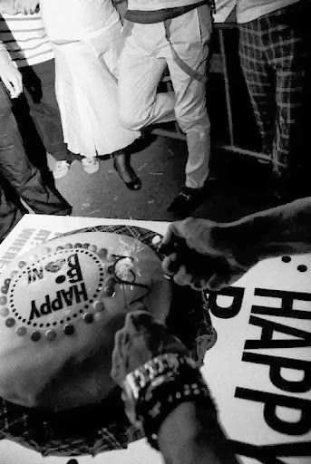
M 239 24 L 239 57 L 263 150 L 277 172 L 295 166 L 302 130 L 307 47 L 306 2 Z M 307 19 L 306 19 L 307 18 Z

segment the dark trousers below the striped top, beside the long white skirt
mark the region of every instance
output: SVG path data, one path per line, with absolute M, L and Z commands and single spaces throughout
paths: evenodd
M 23 139 L 29 138 L 32 122 L 40 136 L 44 149 L 55 160 L 73 161 L 81 159 L 67 150 L 63 142 L 61 115 L 55 95 L 55 63 L 49 60 L 20 68 L 23 74 L 24 95 L 15 105 L 15 117 L 19 122 Z M 32 121 L 25 117 L 28 112 Z M 28 121 L 28 122 L 27 122 Z

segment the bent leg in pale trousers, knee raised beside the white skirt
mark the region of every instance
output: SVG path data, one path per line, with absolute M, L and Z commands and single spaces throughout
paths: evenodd
M 161 24 L 125 22 L 123 34 L 118 78 L 121 124 L 138 130 L 173 121 L 173 92 L 157 93 L 166 67 L 165 58 L 155 56 L 164 40 Z

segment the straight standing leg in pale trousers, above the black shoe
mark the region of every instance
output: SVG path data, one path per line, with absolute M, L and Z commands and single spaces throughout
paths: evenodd
M 186 187 L 200 189 L 209 176 L 210 124 L 206 107 L 206 63 L 212 20 L 208 5 L 166 25 L 167 62 L 175 91 L 175 113 L 188 146 Z M 175 54 L 176 53 L 176 54 Z M 177 57 L 176 57 L 177 55 Z

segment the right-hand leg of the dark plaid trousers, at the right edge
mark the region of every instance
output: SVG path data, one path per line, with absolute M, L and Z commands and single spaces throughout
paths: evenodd
M 267 55 L 276 72 L 275 171 L 290 171 L 298 162 L 302 137 L 307 41 L 301 5 L 281 8 L 267 17 Z

